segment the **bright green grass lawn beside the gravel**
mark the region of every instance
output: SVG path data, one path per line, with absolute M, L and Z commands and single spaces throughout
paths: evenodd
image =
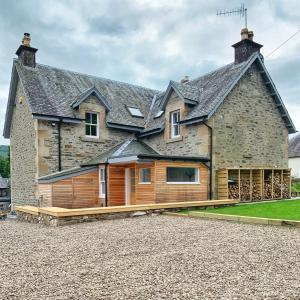
M 204 210 L 199 209 L 199 211 Z M 300 200 L 281 200 L 267 203 L 238 204 L 235 206 L 207 208 L 205 212 L 300 221 Z M 188 214 L 189 211 L 182 210 L 181 213 Z

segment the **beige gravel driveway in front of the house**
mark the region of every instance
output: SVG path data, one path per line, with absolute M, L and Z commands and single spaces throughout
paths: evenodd
M 145 216 L 0 222 L 0 299 L 300 299 L 300 230 Z

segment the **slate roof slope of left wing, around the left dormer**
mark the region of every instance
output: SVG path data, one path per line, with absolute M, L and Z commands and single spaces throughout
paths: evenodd
M 138 107 L 143 115 L 147 115 L 153 96 L 158 93 L 157 90 L 46 65 L 36 64 L 31 68 L 18 60 L 14 64 L 34 114 L 78 118 L 77 110 L 71 105 L 95 87 L 111 107 L 107 122 L 143 127 L 145 120 L 133 118 L 126 105 Z

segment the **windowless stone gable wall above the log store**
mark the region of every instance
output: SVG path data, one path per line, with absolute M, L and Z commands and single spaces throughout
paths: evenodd
M 256 66 L 210 121 L 214 167 L 288 167 L 288 130 Z

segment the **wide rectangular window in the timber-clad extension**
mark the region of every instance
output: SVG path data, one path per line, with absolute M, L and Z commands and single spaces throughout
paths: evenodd
M 198 168 L 167 167 L 167 183 L 199 183 Z

